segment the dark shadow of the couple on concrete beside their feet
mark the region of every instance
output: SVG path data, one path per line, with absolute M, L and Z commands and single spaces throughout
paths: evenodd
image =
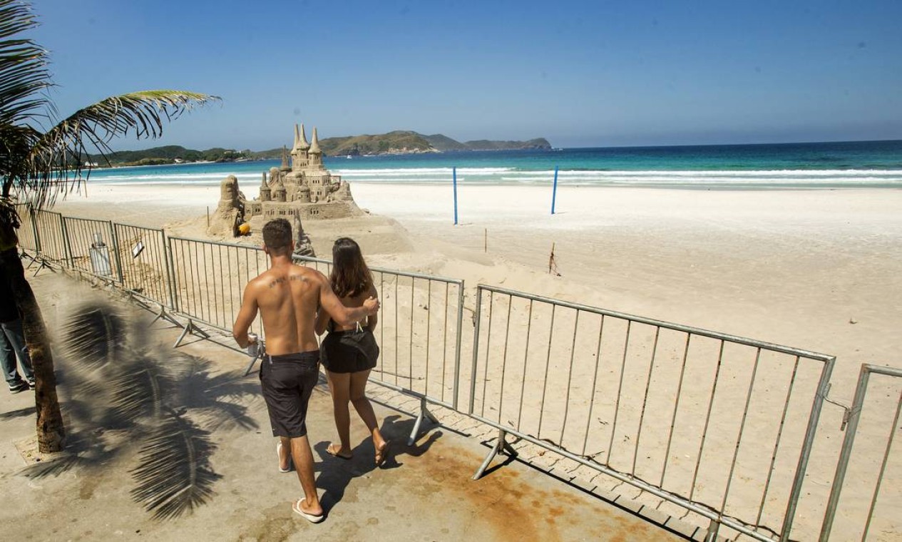
M 357 446 L 354 446 L 352 459 L 342 459 L 335 457 L 327 452 L 329 443 L 327 441 L 318 442 L 313 446 L 321 461 L 314 465 L 314 470 L 319 472 L 317 478 L 317 486 L 326 491 L 320 503 L 323 506 L 323 512 L 328 514 L 344 497 L 345 489 L 354 478 L 371 473 L 376 468 L 382 470 L 396 469 L 403 466 L 398 458 L 403 455 L 419 457 L 426 454 L 429 447 L 441 438 L 441 431 L 433 431 L 428 438 L 422 442 L 415 443 L 413 446 L 407 446 L 407 437 L 413 430 L 415 419 L 407 418 L 400 420 L 399 415 L 387 416 L 382 420 L 382 436 L 391 444 L 389 446 L 388 455 L 380 467 L 376 467 L 374 457 L 375 449 L 373 448 L 373 439 L 364 438 Z

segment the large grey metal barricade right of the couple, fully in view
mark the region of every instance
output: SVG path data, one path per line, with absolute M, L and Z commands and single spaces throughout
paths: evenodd
M 712 539 L 786 540 L 833 362 L 480 285 L 467 413 L 499 439 L 474 479 L 516 453 L 511 434 L 707 519 Z

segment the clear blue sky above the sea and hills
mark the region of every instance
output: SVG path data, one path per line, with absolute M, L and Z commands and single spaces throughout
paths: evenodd
M 415 130 L 557 147 L 902 139 L 902 0 L 33 0 L 60 115 L 222 96 L 156 142 Z

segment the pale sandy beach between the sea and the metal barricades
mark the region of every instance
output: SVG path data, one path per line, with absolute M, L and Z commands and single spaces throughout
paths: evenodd
M 254 190 L 244 191 L 253 197 Z M 353 191 L 374 216 L 305 223 L 318 254 L 327 257 L 332 240 L 349 234 L 371 264 L 464 279 L 470 289 L 486 283 L 832 354 L 829 398 L 845 405 L 861 363 L 902 364 L 902 191 L 564 187 L 552 216 L 548 188 L 462 186 L 459 225 L 450 187 L 358 183 Z M 217 194 L 215 187 L 93 185 L 87 200 L 69 198 L 56 210 L 201 237 Z M 559 276 L 548 273 L 552 246 Z M 856 482 L 843 492 L 837 539 L 855 537 L 863 524 L 861 506 L 870 504 L 897 404 L 898 382 L 872 386 L 865 414 L 874 420 L 856 443 L 861 471 L 851 471 Z M 483 401 L 497 399 L 491 387 L 485 393 Z M 672 409 L 653 400 L 656 409 Z M 841 419 L 842 409 L 824 405 L 794 537 L 816 536 Z M 902 500 L 899 455 L 890 459 L 871 525 L 872 536 L 887 540 L 902 536 L 887 513 Z M 742 484 L 732 491 L 741 496 Z

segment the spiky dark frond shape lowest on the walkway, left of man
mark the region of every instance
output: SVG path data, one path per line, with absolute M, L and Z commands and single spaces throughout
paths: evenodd
M 208 457 L 216 449 L 209 433 L 187 418 L 172 415 L 154 427 L 140 452 L 140 464 L 132 471 L 138 486 L 135 501 L 153 511 L 156 519 L 173 519 L 193 510 L 212 495 L 213 472 Z

